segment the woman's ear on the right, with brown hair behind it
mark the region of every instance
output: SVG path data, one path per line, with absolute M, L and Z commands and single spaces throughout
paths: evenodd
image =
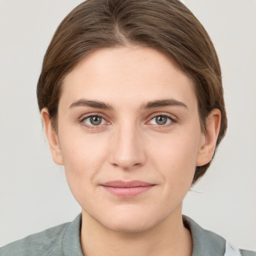
M 217 108 L 212 109 L 209 113 L 206 119 L 205 132 L 201 136 L 196 166 L 202 166 L 211 160 L 219 133 L 220 118 L 221 113 Z

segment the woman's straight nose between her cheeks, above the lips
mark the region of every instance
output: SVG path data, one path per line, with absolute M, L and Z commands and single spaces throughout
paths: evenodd
M 136 125 L 120 125 L 110 138 L 110 148 L 109 160 L 115 167 L 131 170 L 145 163 L 143 136 Z

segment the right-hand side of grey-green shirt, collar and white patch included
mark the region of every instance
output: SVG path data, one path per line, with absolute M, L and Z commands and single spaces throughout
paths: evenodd
M 255 251 L 231 246 L 222 236 L 202 228 L 194 220 L 184 215 L 183 223 L 192 236 L 192 256 L 256 256 Z

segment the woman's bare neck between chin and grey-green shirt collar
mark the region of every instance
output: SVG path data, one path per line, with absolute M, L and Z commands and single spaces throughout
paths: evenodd
M 85 256 L 190 256 L 192 240 L 183 226 L 181 207 L 148 230 L 128 233 L 110 230 L 82 210 L 82 252 Z

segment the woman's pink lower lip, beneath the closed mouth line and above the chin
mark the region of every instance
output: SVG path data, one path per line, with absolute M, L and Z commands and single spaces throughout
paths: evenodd
M 142 194 L 154 185 L 150 186 L 135 186 L 135 187 L 114 187 L 114 186 L 103 186 L 111 194 L 120 196 L 120 197 L 133 197 L 139 194 Z

